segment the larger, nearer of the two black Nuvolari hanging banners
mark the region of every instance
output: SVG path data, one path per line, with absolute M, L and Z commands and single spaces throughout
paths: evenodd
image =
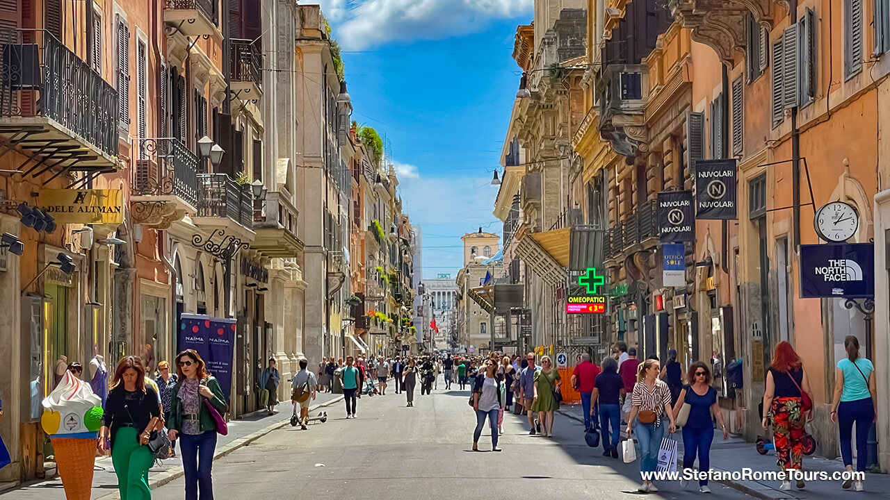
M 734 221 L 735 158 L 695 162 L 695 218 Z

